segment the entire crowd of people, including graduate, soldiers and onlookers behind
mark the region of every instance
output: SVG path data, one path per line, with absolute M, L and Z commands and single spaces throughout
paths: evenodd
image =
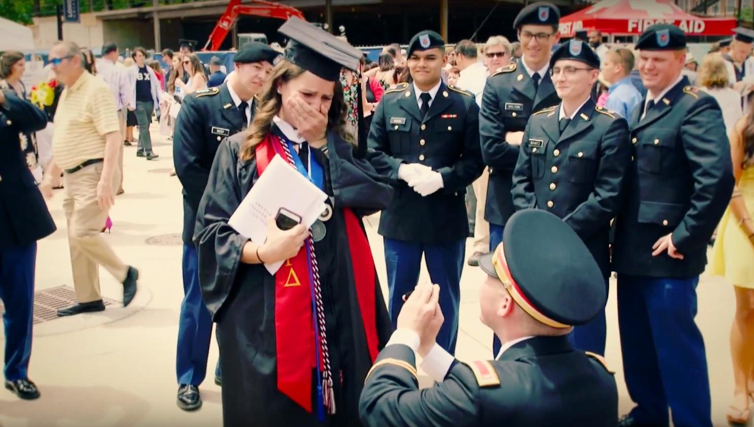
M 4 53 L 0 133 L 18 142 L 0 148 L 6 387 L 39 396 L 26 371 L 53 188 L 64 188 L 77 297 L 58 314 L 105 310 L 99 266 L 123 284 L 124 306 L 133 300 L 139 271 L 101 231 L 124 192 L 124 147 L 158 157 L 154 116 L 183 188 L 183 410 L 201 407 L 216 323 L 225 425 L 710 426 L 694 322 L 707 270 L 734 285 L 727 416 L 748 422 L 754 31 L 734 29 L 698 64 L 677 26 L 608 46 L 596 30 L 561 39 L 559 17 L 547 2 L 522 8 L 515 43 L 495 35 L 451 49 L 422 31 L 375 63 L 291 18 L 285 50 L 245 44 L 229 74 L 189 43 L 160 64 L 142 47 L 123 60 L 106 43 L 97 59 L 61 41 L 49 93 L 26 93 L 23 54 Z M 326 206 L 309 223 L 280 209 L 253 241 L 231 216 L 276 157 Z M 361 222 L 375 212 L 387 300 Z M 418 281 L 422 258 L 434 285 Z M 464 264 L 487 276 L 491 361 L 453 356 Z M 636 403 L 620 419 L 603 357 L 611 273 Z

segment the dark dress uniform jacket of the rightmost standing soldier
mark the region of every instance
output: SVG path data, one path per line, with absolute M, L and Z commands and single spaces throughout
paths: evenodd
M 643 108 L 642 102 L 631 121 L 633 161 L 616 220 L 613 268 L 636 276 L 697 276 L 734 185 L 722 112 L 687 78 L 639 120 Z M 668 233 L 684 259 L 652 256 L 654 242 Z

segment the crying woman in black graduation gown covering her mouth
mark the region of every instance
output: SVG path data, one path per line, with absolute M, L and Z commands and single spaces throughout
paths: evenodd
M 388 206 L 391 188 L 344 133 L 341 63 L 308 45 L 289 44 L 249 131 L 222 142 L 199 207 L 194 239 L 226 426 L 360 425 L 366 374 L 391 334 L 361 221 Z M 328 194 L 328 207 L 311 229 L 280 230 L 270 218 L 258 246 L 228 218 L 276 155 Z M 277 261 L 274 275 L 262 265 Z

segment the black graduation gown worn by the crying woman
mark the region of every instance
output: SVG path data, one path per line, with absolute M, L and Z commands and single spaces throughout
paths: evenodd
M 279 132 L 275 127 L 274 131 Z M 195 243 L 205 303 L 217 322 L 222 347 L 222 416 L 228 425 L 320 425 L 317 406 L 308 413 L 277 389 L 274 329 L 274 276 L 261 264 L 241 264 L 247 239 L 228 218 L 258 178 L 256 159 L 239 158 L 246 133 L 222 142 L 197 215 Z M 336 414 L 325 425 L 360 425 L 358 401 L 372 365 L 354 287 L 351 254 L 342 207 L 359 217 L 388 206 L 392 190 L 353 147 L 328 134 L 329 159 L 315 150 L 335 209 L 326 236 L 315 243 L 335 383 Z M 364 256 L 371 256 L 365 254 Z M 379 347 L 392 332 L 379 284 L 375 285 Z M 312 401 L 316 402 L 316 374 Z

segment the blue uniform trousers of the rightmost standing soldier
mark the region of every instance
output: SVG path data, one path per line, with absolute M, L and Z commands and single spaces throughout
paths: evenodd
M 694 322 L 699 277 L 618 275 L 626 386 L 636 422 L 711 427 L 710 380 L 702 334 Z

